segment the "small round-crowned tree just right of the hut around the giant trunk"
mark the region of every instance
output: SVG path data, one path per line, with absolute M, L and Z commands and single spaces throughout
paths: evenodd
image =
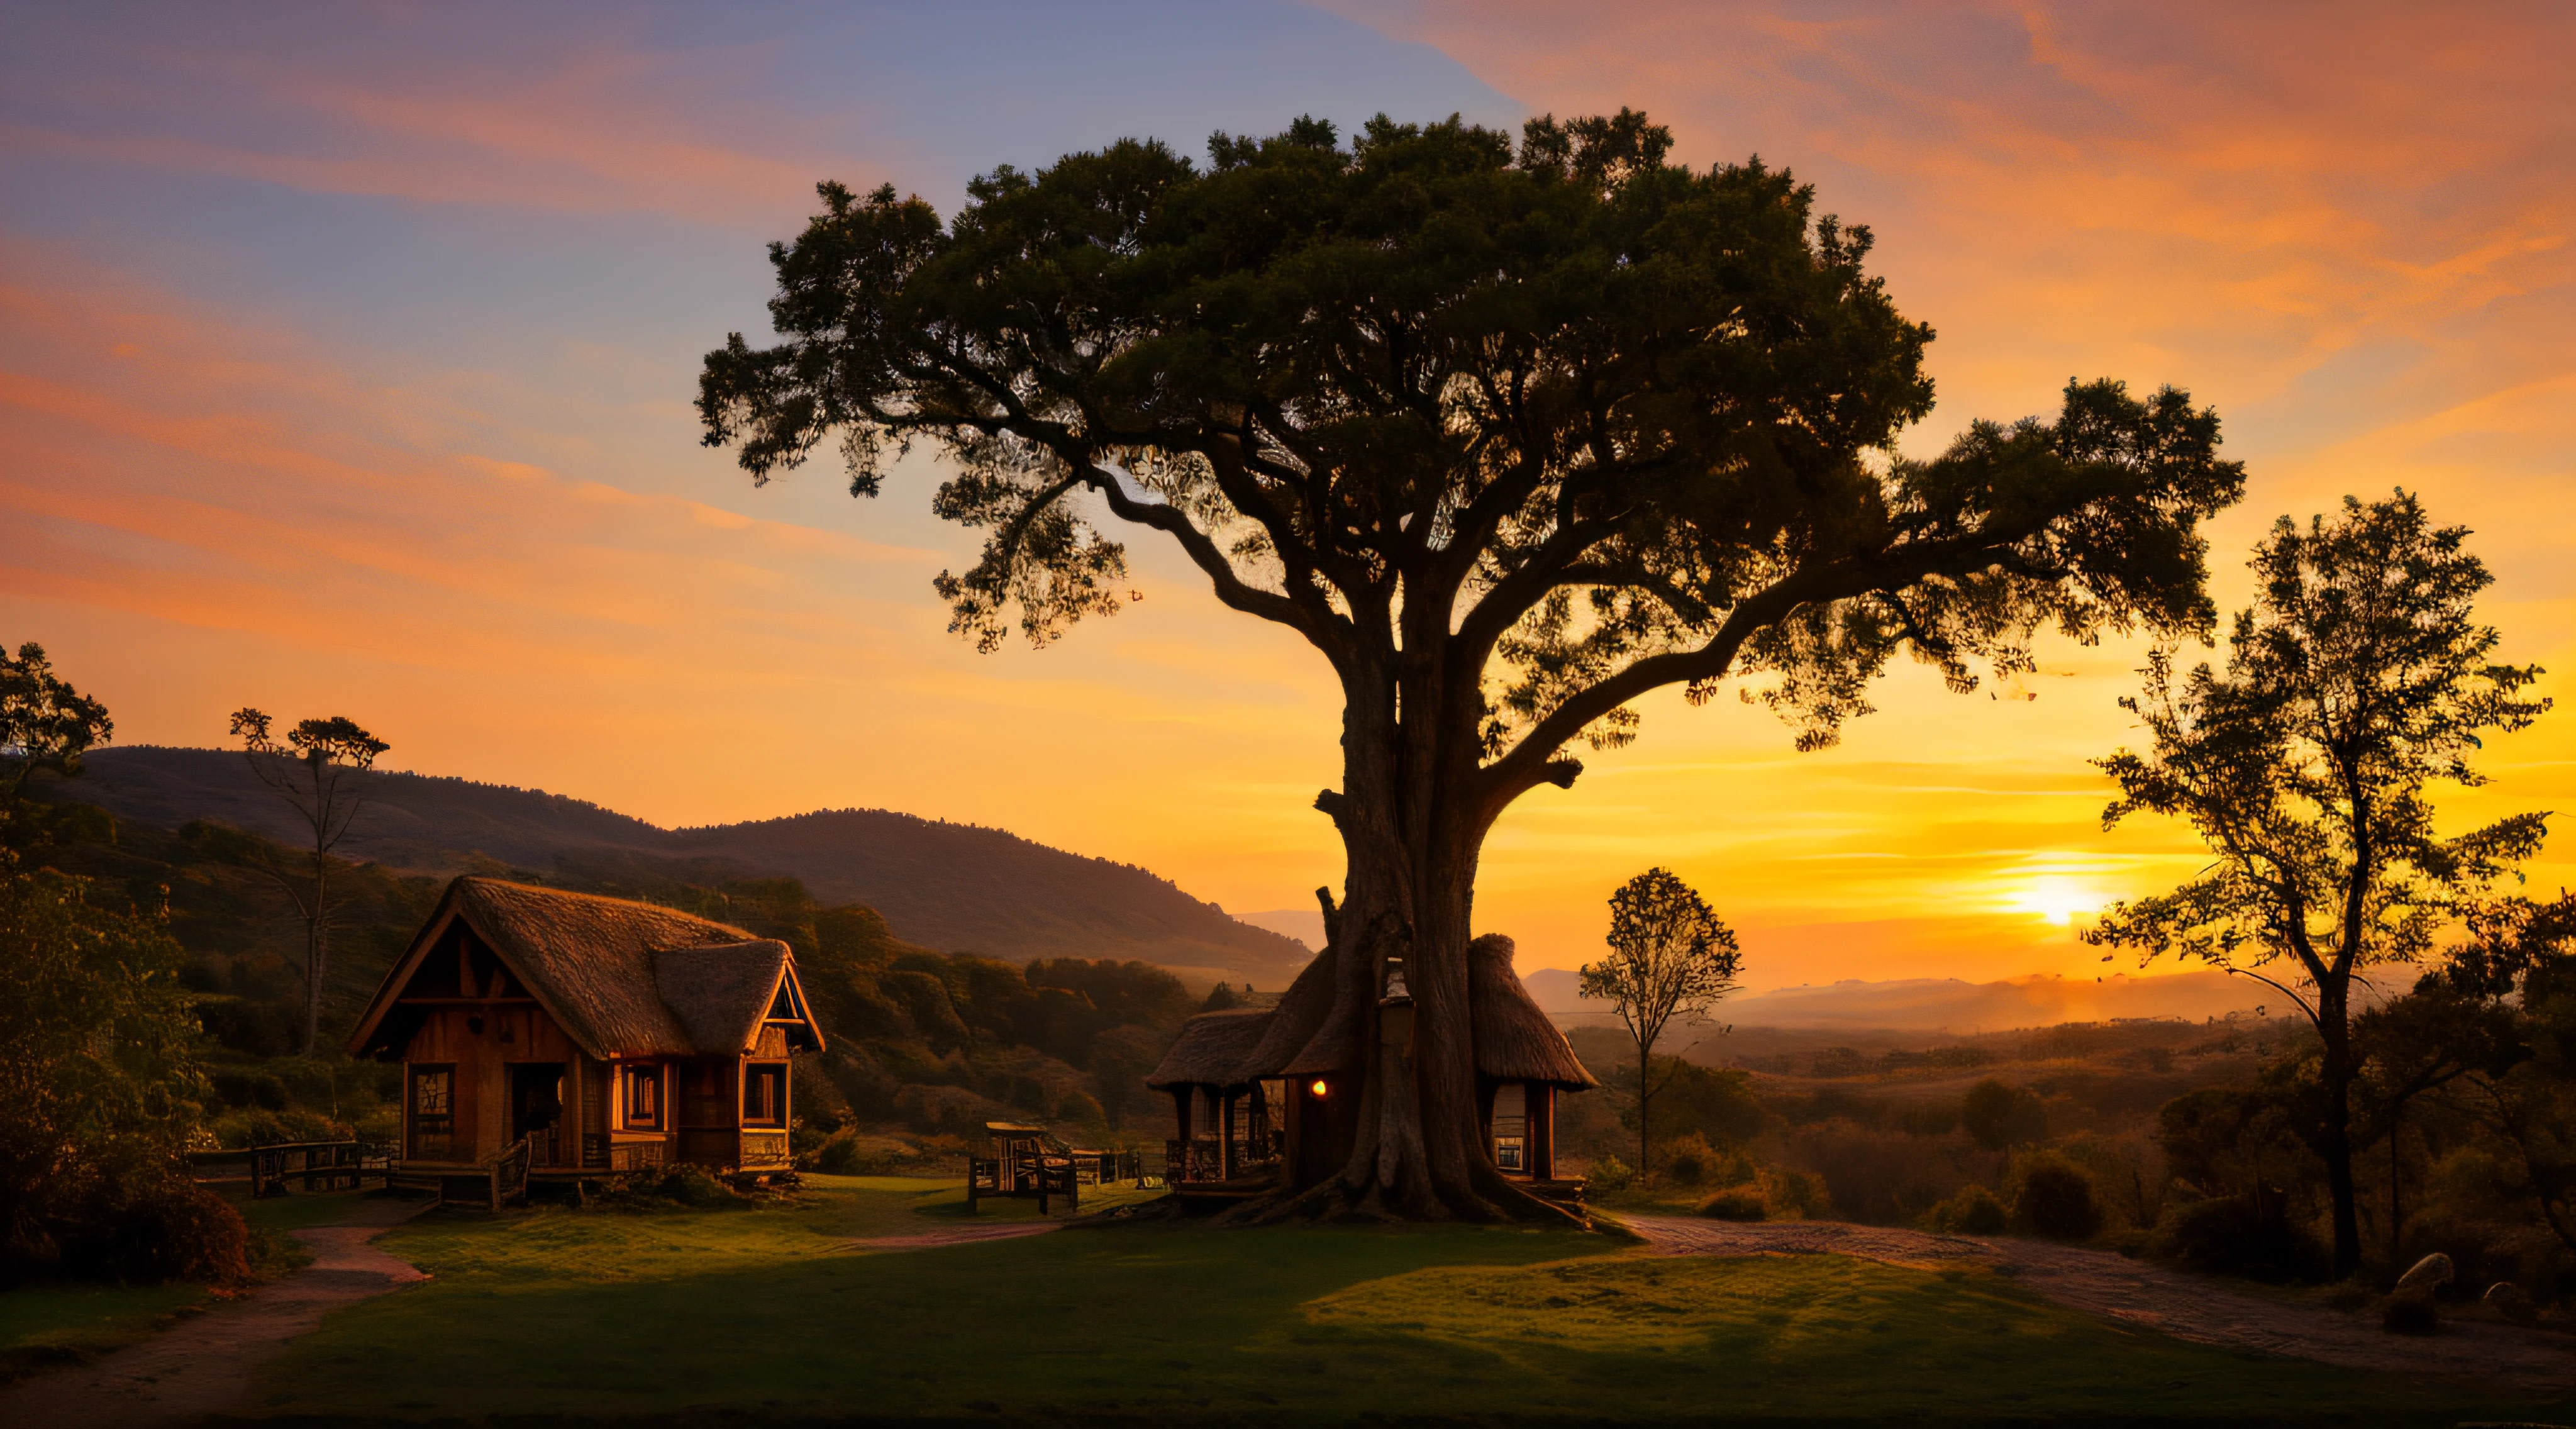
M 1636 1172 L 1651 1174 L 1654 1138 L 1646 1112 L 1662 1089 L 1651 1081 L 1654 1043 L 1674 1017 L 1698 1017 L 1736 989 L 1736 929 L 1718 919 L 1698 888 L 1667 868 L 1649 868 L 1610 893 L 1610 955 L 1584 963 L 1582 994 L 1618 1009 L 1636 1043 Z M 1669 1074 L 1667 1074 L 1669 1081 Z

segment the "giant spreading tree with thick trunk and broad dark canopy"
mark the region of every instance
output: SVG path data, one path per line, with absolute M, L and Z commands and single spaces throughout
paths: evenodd
M 2040 626 L 2202 631 L 2197 523 L 2236 500 L 2182 391 L 2074 384 L 2056 420 L 1896 453 L 1932 407 L 1870 234 L 1762 162 L 1690 170 L 1636 113 L 1525 126 L 1301 118 L 994 170 L 945 224 L 827 183 L 773 245 L 783 337 L 708 353 L 711 445 L 768 479 L 837 440 L 853 494 L 930 443 L 984 533 L 953 628 L 1046 644 L 1172 541 L 1216 600 L 1342 682 L 1347 852 L 1314 1048 L 1360 1133 L 1298 1210 L 1546 1213 L 1476 1135 L 1476 857 L 1636 700 L 1726 680 L 1821 747 L 1909 651 L 1953 685 Z M 1381 1040 L 1404 958 L 1409 1048 Z M 1301 1027 L 1303 1032 L 1303 1027 Z

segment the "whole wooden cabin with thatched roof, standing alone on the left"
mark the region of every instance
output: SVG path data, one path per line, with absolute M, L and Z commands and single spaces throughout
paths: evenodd
M 822 1051 L 786 942 L 626 899 L 459 878 L 350 1056 L 402 1063 L 397 1179 L 531 1179 L 788 1156 L 788 1053 Z

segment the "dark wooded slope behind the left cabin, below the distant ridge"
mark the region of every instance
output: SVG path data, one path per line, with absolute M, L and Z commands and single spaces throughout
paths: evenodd
M 392 1135 L 389 1069 L 337 1056 L 366 999 L 438 901 L 443 878 L 381 863 L 335 868 L 335 929 L 322 1056 L 301 1045 L 301 924 L 270 878 L 289 847 L 211 819 L 160 829 L 64 806 L 33 865 L 90 878 L 93 901 L 165 914 L 183 981 L 211 1040 L 209 1128 L 276 1141 L 361 1128 Z M 549 886 L 688 909 L 781 937 L 829 1038 L 799 1061 L 799 1135 L 842 1123 L 925 1135 L 987 1117 L 1043 1117 L 1118 1133 L 1146 1107 L 1144 1074 L 1198 999 L 1144 960 L 935 953 L 866 904 L 819 904 L 796 878 L 688 881 L 644 860 L 567 857 Z M 1159 1128 L 1159 1123 L 1154 1123 Z

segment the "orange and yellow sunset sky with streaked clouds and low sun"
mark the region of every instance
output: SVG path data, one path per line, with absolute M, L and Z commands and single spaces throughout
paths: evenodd
M 979 657 L 930 592 L 935 469 L 853 502 L 698 448 L 698 358 L 765 332 L 814 180 L 969 175 L 1298 113 L 1517 129 L 1643 108 L 1878 232 L 1937 412 L 2069 376 L 2218 407 L 2277 515 L 2421 492 L 2478 530 L 2509 659 L 2576 669 L 2576 8 L 2566 5 L 116 5 L 0 3 L 0 639 L 121 744 L 345 713 L 389 767 L 659 824 L 881 806 L 1146 865 L 1234 911 L 1340 881 L 1337 698 L 1131 541 L 1144 602 Z M 1664 863 L 1747 984 L 2102 966 L 2081 911 L 2197 868 L 2099 832 L 2136 646 L 1844 744 L 1649 700 L 1494 834 L 1479 924 L 1600 948 Z M 2576 708 L 2452 824 L 2576 814 Z M 2532 868 L 2576 883 L 2576 829 Z

